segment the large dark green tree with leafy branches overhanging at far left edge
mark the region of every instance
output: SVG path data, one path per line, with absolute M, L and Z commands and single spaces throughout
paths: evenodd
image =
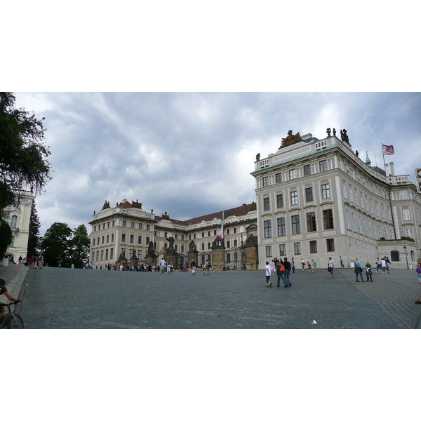
M 0 215 L 13 204 L 14 192 L 44 191 L 51 180 L 51 154 L 44 145 L 43 119 L 15 108 L 15 95 L 0 93 Z

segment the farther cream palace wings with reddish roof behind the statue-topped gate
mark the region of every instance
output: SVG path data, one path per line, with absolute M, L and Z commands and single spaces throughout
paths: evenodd
M 212 262 L 212 243 L 220 235 L 222 210 L 190 220 L 174 220 L 164 213 L 154 215 L 153 210 L 142 209 L 142 203 L 123 199 L 114 208 L 105 201 L 102 210 L 93 214 L 90 259 L 95 269 L 112 265 L 121 258 L 145 262 L 151 243 L 156 262 L 166 255 L 168 237 L 174 239 L 178 255 L 177 268 L 190 263 L 187 258 L 189 244 L 194 241 L 197 265 Z M 241 245 L 250 234 L 257 234 L 255 203 L 243 204 L 224 210 L 225 263 L 227 269 L 241 268 L 244 264 Z

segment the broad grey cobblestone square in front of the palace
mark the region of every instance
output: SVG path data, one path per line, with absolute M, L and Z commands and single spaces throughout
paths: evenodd
M 29 270 L 19 313 L 25 328 L 416 328 L 421 316 L 415 271 L 352 269 L 291 274 L 291 288 L 266 287 L 264 271 L 112 272 Z M 314 323 L 316 321 L 316 323 Z

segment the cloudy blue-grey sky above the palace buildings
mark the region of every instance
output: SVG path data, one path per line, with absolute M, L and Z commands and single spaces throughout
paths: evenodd
M 395 173 L 421 166 L 420 93 L 16 93 L 46 117 L 53 180 L 36 198 L 45 231 L 88 225 L 105 200 L 138 199 L 185 220 L 255 200 L 256 154 L 288 130 L 316 138 L 346 128 L 352 148 Z M 408 154 L 408 151 L 411 151 Z M 90 227 L 88 227 L 90 228 Z

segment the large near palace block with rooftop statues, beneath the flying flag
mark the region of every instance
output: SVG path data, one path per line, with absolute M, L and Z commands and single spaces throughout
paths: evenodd
M 352 267 L 389 256 L 392 267 L 415 268 L 421 255 L 421 195 L 409 175 L 394 175 L 359 158 L 346 131 L 321 140 L 288 132 L 265 159 L 256 156 L 258 259 L 302 258 Z M 406 239 L 402 239 L 406 237 Z

